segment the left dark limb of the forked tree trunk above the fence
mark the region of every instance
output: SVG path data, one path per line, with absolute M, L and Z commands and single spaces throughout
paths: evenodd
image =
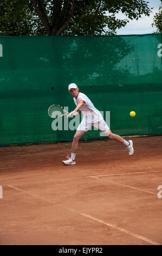
M 50 23 L 48 21 L 48 17 L 47 14 L 44 12 L 43 10 L 43 4 L 41 0 L 38 0 L 38 5 L 36 3 L 36 0 L 31 0 L 31 3 L 34 5 L 34 9 L 38 15 L 38 17 L 40 18 L 40 20 L 42 21 L 44 27 L 47 30 L 48 35 L 51 35 L 51 27 L 50 27 Z

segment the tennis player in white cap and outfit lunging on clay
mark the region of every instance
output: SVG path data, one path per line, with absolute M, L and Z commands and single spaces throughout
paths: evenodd
M 72 115 L 75 115 L 77 117 L 82 113 L 83 119 L 80 125 L 77 127 L 76 133 L 74 135 L 71 157 L 66 156 L 68 160 L 62 161 L 62 163 L 67 165 L 76 164 L 75 156 L 79 139 L 85 132 L 90 129 L 92 125 L 102 131 L 103 134 L 109 139 L 114 139 L 115 141 L 124 144 L 127 147 L 129 155 L 133 155 L 133 142 L 125 141 L 124 138 L 111 132 L 100 111 L 98 111 L 98 109 L 94 107 L 92 101 L 90 101 L 90 99 L 85 94 L 79 92 L 79 88 L 77 87 L 77 85 L 75 83 L 71 83 L 69 84 L 68 89 L 69 93 L 74 96 L 73 99 L 76 108 L 74 109 L 74 111 L 70 112 L 67 117 L 70 117 Z

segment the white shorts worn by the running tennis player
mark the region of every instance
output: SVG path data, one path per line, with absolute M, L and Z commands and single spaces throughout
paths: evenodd
M 85 131 L 87 132 L 91 126 L 96 127 L 98 130 L 100 130 L 101 132 L 103 132 L 103 134 L 105 136 L 108 136 L 110 133 L 110 129 L 108 127 L 108 125 L 106 124 L 106 121 L 104 119 L 101 119 L 100 121 L 96 122 L 96 123 L 88 123 L 86 121 L 86 119 L 82 119 L 80 125 L 77 127 L 77 131 Z

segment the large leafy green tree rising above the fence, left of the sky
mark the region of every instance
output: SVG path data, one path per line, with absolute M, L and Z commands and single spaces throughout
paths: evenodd
M 0 35 L 115 34 L 128 19 L 150 15 L 144 0 L 1 0 Z M 126 19 L 115 14 L 121 11 Z

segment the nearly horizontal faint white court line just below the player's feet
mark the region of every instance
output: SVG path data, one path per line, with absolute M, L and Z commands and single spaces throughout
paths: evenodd
M 45 182 L 51 182 L 51 181 L 63 181 L 63 180 L 75 180 L 75 179 L 85 179 L 85 178 L 96 178 L 96 177 L 104 177 L 104 176 L 118 176 L 118 175 L 125 175 L 125 174 L 140 174 L 140 173 L 155 173 L 155 172 L 161 172 L 161 170 L 155 170 L 155 171 L 148 171 L 148 172 L 137 172 L 137 173 L 116 173 L 116 174 L 103 174 L 103 175 L 95 175 L 95 176 L 82 176 L 82 177 L 76 177 L 76 178 L 62 178 L 62 179 L 55 179 L 55 180 L 43 180 L 43 181 L 36 181 L 36 182 L 25 182 L 20 184 L 14 184 L 14 186 L 21 186 L 26 184 L 37 184 L 37 183 L 45 183 Z M 30 174 L 30 173 L 29 173 Z

